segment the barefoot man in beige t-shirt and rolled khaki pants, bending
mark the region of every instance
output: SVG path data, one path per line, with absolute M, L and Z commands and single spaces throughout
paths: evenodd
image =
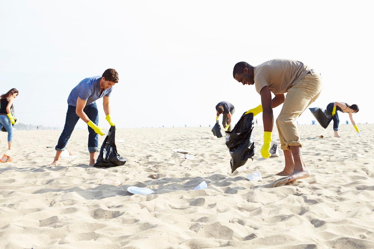
M 248 110 L 245 114 L 257 115 L 263 112 L 264 144 L 261 155 L 270 157 L 273 131 L 273 108 L 283 103 L 276 125 L 285 156 L 285 168 L 277 175 L 287 175 L 279 179 L 286 184 L 310 176 L 301 153 L 301 141 L 295 120 L 313 103 L 322 90 L 322 80 L 310 66 L 297 60 L 273 59 L 258 66 L 238 62 L 233 69 L 233 77 L 243 85 L 255 85 L 261 96 L 261 105 Z M 275 97 L 272 99 L 272 94 Z M 285 97 L 285 93 L 287 96 Z

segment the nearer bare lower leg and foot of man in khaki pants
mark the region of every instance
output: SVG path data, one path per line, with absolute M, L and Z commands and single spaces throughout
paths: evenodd
M 288 177 L 285 177 L 281 182 L 283 184 L 289 183 L 302 178 L 310 177 L 310 171 L 305 166 L 303 160 L 303 154 L 301 153 L 300 146 L 289 146 L 292 152 L 292 156 L 295 162 L 294 172 L 292 172 Z

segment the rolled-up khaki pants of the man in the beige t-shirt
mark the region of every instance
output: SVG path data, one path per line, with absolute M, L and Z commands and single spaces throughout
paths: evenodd
M 295 120 L 318 98 L 321 91 L 319 73 L 307 74 L 288 89 L 282 111 L 276 120 L 282 150 L 289 150 L 289 146 L 302 146 Z

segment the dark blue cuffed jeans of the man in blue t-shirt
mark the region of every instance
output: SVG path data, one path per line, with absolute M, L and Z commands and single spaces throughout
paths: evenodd
M 58 143 L 56 145 L 56 150 L 65 150 L 65 146 L 69 141 L 71 133 L 73 133 L 74 127 L 79 120 L 79 116 L 75 112 L 76 107 L 68 105 L 68 111 L 66 112 L 66 120 L 64 130 L 62 131 L 60 137 L 58 138 Z M 83 108 L 83 112 L 86 113 L 88 118 L 95 123 L 99 124 L 99 113 L 97 110 L 96 103 L 86 106 Z M 98 134 L 87 125 L 88 127 L 88 151 L 89 153 L 99 151 L 99 136 Z

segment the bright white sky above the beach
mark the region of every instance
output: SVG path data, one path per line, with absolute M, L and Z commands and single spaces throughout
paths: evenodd
M 324 89 L 310 107 L 356 103 L 354 120 L 374 122 L 371 1 L 0 3 L 0 92 L 19 90 L 15 112 L 25 124 L 63 127 L 71 89 L 107 68 L 119 73 L 111 107 L 120 128 L 213 125 L 222 100 L 234 104 L 236 122 L 260 95 L 233 79 L 234 64 L 274 58 L 321 72 Z M 312 119 L 307 110 L 298 122 Z

